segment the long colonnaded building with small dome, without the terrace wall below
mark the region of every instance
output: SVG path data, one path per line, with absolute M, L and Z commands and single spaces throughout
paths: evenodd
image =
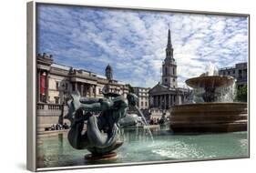
M 82 97 L 103 97 L 102 90 L 127 96 L 128 86 L 113 79 L 111 66 L 101 76 L 86 69 L 75 69 L 54 63 L 45 53 L 37 57 L 37 102 L 62 104 L 68 94 L 79 91 Z

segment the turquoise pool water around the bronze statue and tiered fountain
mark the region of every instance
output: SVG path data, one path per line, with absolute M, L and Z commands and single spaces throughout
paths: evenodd
M 247 132 L 222 134 L 173 135 L 167 129 L 153 131 L 154 142 L 146 129 L 123 129 L 124 144 L 118 148 L 118 158 L 111 161 L 87 162 L 89 152 L 72 148 L 67 135 L 40 138 L 38 167 L 83 166 L 109 163 L 138 163 L 161 160 L 214 158 L 248 158 Z

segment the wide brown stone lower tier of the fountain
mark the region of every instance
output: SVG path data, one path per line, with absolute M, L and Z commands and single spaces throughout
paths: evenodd
M 247 103 L 199 103 L 174 106 L 170 128 L 179 132 L 236 132 L 247 130 Z

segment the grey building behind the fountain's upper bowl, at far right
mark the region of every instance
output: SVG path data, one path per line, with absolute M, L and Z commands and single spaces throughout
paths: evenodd
M 224 67 L 219 69 L 220 76 L 233 76 L 236 78 L 238 87 L 247 84 L 247 63 L 239 63 L 235 66 Z

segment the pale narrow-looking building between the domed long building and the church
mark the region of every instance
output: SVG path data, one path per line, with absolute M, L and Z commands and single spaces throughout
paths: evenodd
M 149 97 L 148 97 L 148 91 L 149 87 L 132 87 L 134 90 L 134 94 L 138 96 L 138 103 L 137 106 L 141 110 L 146 110 L 149 108 Z

